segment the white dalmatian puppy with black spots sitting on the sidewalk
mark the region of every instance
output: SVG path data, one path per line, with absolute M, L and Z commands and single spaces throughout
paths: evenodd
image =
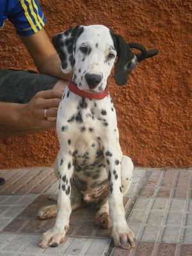
M 136 240 L 125 220 L 123 196 L 133 171 L 129 157 L 122 154 L 116 113 L 109 92 L 103 99 L 83 97 L 108 90 L 108 77 L 115 60 L 116 83 L 127 82 L 137 63 L 136 55 L 121 36 L 105 26 L 76 26 L 52 38 L 64 73 L 74 70 L 72 83 L 58 109 L 57 132 L 60 152 L 54 171 L 60 182 L 58 204 L 42 207 L 38 218 L 56 216 L 54 227 L 42 236 L 40 246 L 58 246 L 65 240 L 72 210 L 97 204 L 96 220 L 109 228 L 116 246 L 134 248 Z

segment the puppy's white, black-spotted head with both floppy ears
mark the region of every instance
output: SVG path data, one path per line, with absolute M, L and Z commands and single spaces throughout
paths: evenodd
M 80 90 L 103 92 L 116 56 L 115 79 L 118 85 L 127 82 L 137 63 L 129 44 L 102 25 L 70 28 L 53 36 L 52 43 L 60 56 L 63 72 L 69 73 L 74 68 L 72 81 Z

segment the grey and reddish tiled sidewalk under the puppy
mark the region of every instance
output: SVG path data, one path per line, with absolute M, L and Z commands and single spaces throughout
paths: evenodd
M 131 188 L 124 197 L 127 222 L 137 246 L 115 248 L 111 230 L 95 225 L 96 209 L 72 212 L 67 241 L 57 248 L 38 246 L 42 232 L 54 220 L 37 220 L 42 205 L 52 204 L 58 182 L 51 168 L 0 170 L 0 256 L 191 256 L 192 169 L 135 168 Z

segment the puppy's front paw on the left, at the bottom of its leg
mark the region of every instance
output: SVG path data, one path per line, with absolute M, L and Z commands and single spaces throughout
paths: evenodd
M 61 230 L 58 230 L 57 228 L 47 230 L 47 232 L 43 234 L 42 240 L 40 241 L 39 245 L 41 246 L 41 248 L 58 246 L 60 243 L 63 243 L 65 241 L 65 234 L 67 230 L 68 226 L 65 226 L 65 230 L 63 232 L 61 232 Z

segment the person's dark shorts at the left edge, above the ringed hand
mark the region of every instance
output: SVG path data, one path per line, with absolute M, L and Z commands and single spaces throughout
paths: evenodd
M 40 91 L 51 90 L 60 79 L 24 70 L 0 70 L 0 101 L 26 103 Z

